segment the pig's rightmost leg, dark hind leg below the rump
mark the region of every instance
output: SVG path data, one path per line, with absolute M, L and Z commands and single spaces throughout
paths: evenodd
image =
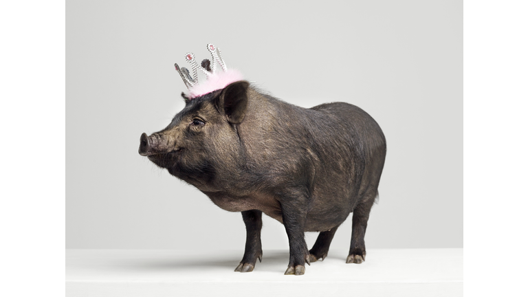
M 365 261 L 365 232 L 366 222 L 369 221 L 372 205 L 377 196 L 377 191 L 363 199 L 361 203 L 355 206 L 352 215 L 352 239 L 350 242 L 349 256 L 347 263 L 361 264 Z

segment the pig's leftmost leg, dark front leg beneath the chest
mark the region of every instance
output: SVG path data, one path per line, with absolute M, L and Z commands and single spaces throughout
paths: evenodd
M 262 212 L 260 210 L 246 210 L 242 212 L 245 223 L 245 252 L 236 272 L 252 272 L 256 259 L 262 261 L 261 229 Z

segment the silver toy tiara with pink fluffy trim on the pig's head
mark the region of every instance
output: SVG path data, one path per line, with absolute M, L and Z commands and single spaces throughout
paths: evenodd
M 204 59 L 201 61 L 201 65 L 195 60 L 195 54 L 188 52 L 185 55 L 185 59 L 190 63 L 192 69 L 192 76 L 190 76 L 189 70 L 185 67 L 179 67 L 177 63 L 174 64 L 177 72 L 181 76 L 181 79 L 184 80 L 186 87 L 189 89 L 189 93 L 186 94 L 187 98 L 190 100 L 192 98 L 197 98 L 203 96 L 217 89 L 223 89 L 227 87 L 230 83 L 234 83 L 239 80 L 243 80 L 242 74 L 235 69 L 228 69 L 223 61 L 220 49 L 214 47 L 211 43 L 207 45 L 207 50 L 212 55 L 212 61 Z M 217 63 L 220 64 L 222 72 L 217 73 Z M 198 71 L 200 70 L 203 74 L 206 74 L 207 80 L 203 83 L 198 83 Z

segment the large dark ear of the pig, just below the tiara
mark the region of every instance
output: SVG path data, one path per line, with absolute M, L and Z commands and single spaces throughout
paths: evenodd
M 223 110 L 232 124 L 240 124 L 248 107 L 248 87 L 250 83 L 241 80 L 225 87 L 218 100 L 219 110 Z

